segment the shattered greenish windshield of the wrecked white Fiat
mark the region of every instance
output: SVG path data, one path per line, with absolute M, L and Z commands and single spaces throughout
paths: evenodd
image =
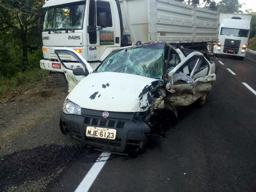
M 165 43 L 130 47 L 110 54 L 98 72 L 129 73 L 163 79 Z

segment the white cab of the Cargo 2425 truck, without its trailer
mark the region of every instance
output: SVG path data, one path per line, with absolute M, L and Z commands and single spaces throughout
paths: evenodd
M 107 48 L 112 52 L 114 47 L 121 46 L 120 20 L 113 19 L 119 17 L 116 1 L 48 0 L 43 7 L 47 12 L 42 32 L 45 59 L 40 61 L 41 68 L 63 72 L 54 47 L 76 50 L 95 69 Z M 69 61 L 69 68 L 78 68 L 72 57 L 60 57 Z

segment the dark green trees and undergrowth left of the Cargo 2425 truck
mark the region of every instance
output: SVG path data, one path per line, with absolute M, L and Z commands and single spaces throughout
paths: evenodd
M 42 0 L 0 0 L 0 77 L 39 68 L 42 35 L 37 20 L 43 17 Z M 38 50 L 38 51 L 37 51 Z

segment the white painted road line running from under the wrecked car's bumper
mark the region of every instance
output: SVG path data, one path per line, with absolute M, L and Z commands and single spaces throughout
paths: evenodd
M 110 155 L 111 153 L 107 153 L 107 152 L 103 152 L 100 154 L 100 157 L 93 164 L 90 171 L 85 175 L 84 179 L 76 188 L 75 192 L 87 192 L 90 189 L 90 187 L 92 186 L 92 183 L 100 173 L 100 170 L 103 168 L 104 164 L 107 162 L 108 157 Z

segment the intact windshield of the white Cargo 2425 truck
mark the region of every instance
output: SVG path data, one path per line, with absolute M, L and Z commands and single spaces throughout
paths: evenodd
M 85 1 L 48 7 L 44 18 L 44 31 L 83 29 Z

